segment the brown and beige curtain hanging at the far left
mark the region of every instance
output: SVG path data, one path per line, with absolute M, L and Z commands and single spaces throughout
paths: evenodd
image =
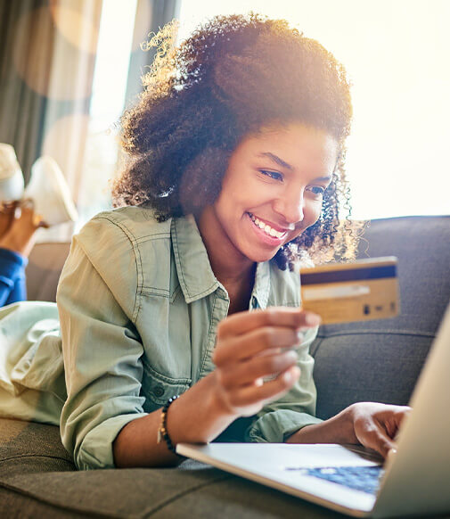
M 0 0 L 0 142 L 24 177 L 52 155 L 75 200 L 102 0 Z

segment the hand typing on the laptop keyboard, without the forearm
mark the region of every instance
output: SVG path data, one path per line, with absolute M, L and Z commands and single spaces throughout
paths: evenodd
M 352 418 L 356 440 L 387 457 L 396 448 L 400 424 L 411 408 L 374 402 L 358 402 L 346 409 Z

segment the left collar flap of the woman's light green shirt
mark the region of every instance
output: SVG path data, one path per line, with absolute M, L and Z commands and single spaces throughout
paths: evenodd
M 219 283 L 209 264 L 208 252 L 195 218 L 192 215 L 173 218 L 170 234 L 185 301 L 199 300 L 217 290 Z

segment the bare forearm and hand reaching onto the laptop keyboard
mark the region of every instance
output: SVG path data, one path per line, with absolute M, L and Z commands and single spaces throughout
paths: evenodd
M 307 425 L 289 443 L 360 443 L 382 457 L 396 448 L 396 436 L 411 408 L 357 402 L 322 424 Z

